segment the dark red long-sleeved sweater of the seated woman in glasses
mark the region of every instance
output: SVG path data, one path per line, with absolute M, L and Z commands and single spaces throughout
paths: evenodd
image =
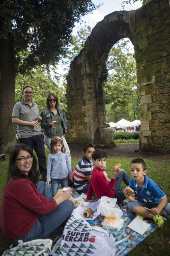
M 47 214 L 56 207 L 56 201 L 42 196 L 30 180 L 11 178 L 3 192 L 0 210 L 0 227 L 4 236 L 25 236 L 35 224 L 37 214 Z

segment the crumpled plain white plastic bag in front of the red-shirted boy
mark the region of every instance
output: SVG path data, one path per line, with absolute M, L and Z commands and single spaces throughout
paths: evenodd
M 119 206 L 116 204 L 116 198 L 110 198 L 107 196 L 102 196 L 99 204 L 99 211 L 104 217 L 118 217 L 120 218 L 123 215 L 122 210 L 120 210 Z

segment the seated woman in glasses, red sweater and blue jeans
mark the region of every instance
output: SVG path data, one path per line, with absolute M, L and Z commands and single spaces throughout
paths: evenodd
M 65 223 L 74 204 L 67 200 L 71 189 L 54 200 L 47 184 L 39 180 L 37 161 L 31 148 L 16 145 L 9 156 L 7 185 L 3 191 L 0 227 L 14 242 L 47 238 Z

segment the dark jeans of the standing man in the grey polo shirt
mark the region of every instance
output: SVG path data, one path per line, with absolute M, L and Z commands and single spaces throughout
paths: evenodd
M 38 158 L 38 166 L 42 176 L 47 175 L 47 167 L 46 167 L 46 155 L 44 149 L 43 135 L 35 135 L 29 138 L 20 138 L 20 143 L 24 143 L 32 150 L 34 149 Z

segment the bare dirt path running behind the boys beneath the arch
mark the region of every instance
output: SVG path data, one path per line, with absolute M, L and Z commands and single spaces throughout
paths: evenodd
M 72 158 L 80 158 L 82 146 L 76 145 L 72 146 L 69 145 L 71 151 Z M 144 159 L 151 159 L 153 161 L 163 161 L 163 162 L 170 162 L 170 154 L 162 155 L 153 152 L 135 152 L 135 150 L 139 149 L 138 144 L 118 144 L 114 148 L 105 148 L 108 157 L 115 158 L 115 157 L 128 157 L 128 158 L 144 158 Z

